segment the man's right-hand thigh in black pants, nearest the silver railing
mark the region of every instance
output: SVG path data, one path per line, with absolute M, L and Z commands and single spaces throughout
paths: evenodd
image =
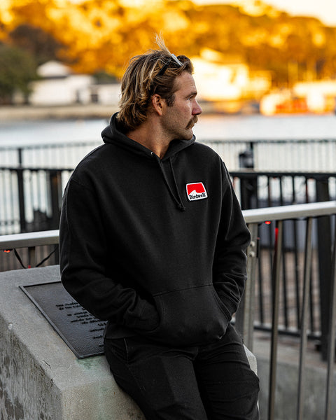
M 232 325 L 219 342 L 202 346 L 195 372 L 209 420 L 259 419 L 259 379 Z

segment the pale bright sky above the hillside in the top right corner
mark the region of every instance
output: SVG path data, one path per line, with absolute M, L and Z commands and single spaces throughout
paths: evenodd
M 245 0 L 246 1 L 246 0 Z M 336 0 L 262 0 L 290 15 L 314 16 L 325 25 L 336 27 Z M 239 3 L 235 0 L 193 0 L 194 3 Z

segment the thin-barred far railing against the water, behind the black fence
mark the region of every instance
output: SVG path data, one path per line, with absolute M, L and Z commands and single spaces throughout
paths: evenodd
M 335 171 L 336 139 L 197 139 L 213 148 L 230 172 L 247 166 L 257 171 Z M 96 141 L 0 147 L 1 167 L 75 167 Z

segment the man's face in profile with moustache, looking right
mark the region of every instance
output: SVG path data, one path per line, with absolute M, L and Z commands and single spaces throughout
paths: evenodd
M 172 106 L 166 106 L 162 114 L 162 128 L 169 140 L 190 140 L 197 116 L 202 113 L 197 103 L 195 80 L 188 71 L 184 71 L 175 80 L 177 90 Z

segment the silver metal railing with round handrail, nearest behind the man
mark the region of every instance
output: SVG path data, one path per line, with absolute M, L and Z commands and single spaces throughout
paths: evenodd
M 275 412 L 275 388 L 276 388 L 276 365 L 278 351 L 279 325 L 279 302 L 281 300 L 281 271 L 283 269 L 281 259 L 283 255 L 283 226 L 287 221 L 304 221 L 304 251 L 302 260 L 302 282 L 300 293 L 300 360 L 297 386 L 297 420 L 303 419 L 304 409 L 304 379 L 305 379 L 305 360 L 307 352 L 307 339 L 309 337 L 309 288 L 311 286 L 311 269 L 314 260 L 314 229 L 318 227 L 314 223 L 316 219 L 328 217 L 333 219 L 332 246 L 330 250 L 330 279 L 328 290 L 330 310 L 327 334 L 328 334 L 328 358 L 326 361 L 327 379 L 325 392 L 325 415 L 324 420 L 331 420 L 332 390 L 333 390 L 333 371 L 335 358 L 335 333 L 336 333 L 336 202 L 320 202 L 311 204 L 297 204 L 292 206 L 272 207 L 267 209 L 253 209 L 243 211 L 244 218 L 251 232 L 251 245 L 248 248 L 248 281 L 243 300 L 237 311 L 235 322 L 239 331 L 244 336 L 244 342 L 248 348 L 253 350 L 253 324 L 255 323 L 255 290 L 258 285 L 258 259 L 260 258 L 260 226 L 265 223 L 275 223 L 274 241 L 272 247 L 272 275 L 271 275 L 271 295 L 272 311 L 271 325 L 271 353 L 269 358 L 269 398 L 267 419 L 274 419 Z M 332 224 L 332 223 L 331 223 Z M 51 232 L 31 232 L 22 235 L 6 235 L 0 237 L 0 250 L 14 248 L 29 248 L 31 260 L 36 260 L 36 248 L 45 245 L 57 245 L 58 231 Z M 36 261 L 35 261 L 36 262 Z M 295 262 L 296 264 L 297 262 Z M 258 300 L 258 294 L 257 294 Z M 258 322 L 257 322 L 258 324 Z

